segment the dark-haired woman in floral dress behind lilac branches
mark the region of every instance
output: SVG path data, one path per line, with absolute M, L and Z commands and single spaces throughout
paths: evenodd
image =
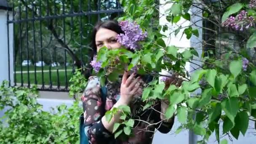
M 121 44 L 117 42 L 116 36 L 121 33 L 123 31 L 117 21 L 104 21 L 97 24 L 93 30 L 93 51 L 97 53 L 103 46 L 110 49 L 120 48 Z M 128 72 L 124 72 L 123 77 L 115 83 L 107 80 L 107 100 L 103 104 L 98 77 L 89 77 L 82 101 L 85 133 L 90 144 L 151 144 L 155 128 L 161 133 L 168 133 L 171 130 L 174 116 L 170 120 L 165 120 L 164 115 L 160 114 L 165 112 L 168 104 L 157 101 L 153 109 L 142 110 L 144 104 L 141 101 L 141 93 L 146 83 L 146 80 L 136 77 L 135 73 L 128 77 Z M 119 113 L 114 115 L 109 123 L 105 117 L 107 110 L 120 105 L 129 105 L 133 119 L 137 119 L 133 136 L 127 139 L 115 139 L 112 133 L 114 123 L 121 122 Z

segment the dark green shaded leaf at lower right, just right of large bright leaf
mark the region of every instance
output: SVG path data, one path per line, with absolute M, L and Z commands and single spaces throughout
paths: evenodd
M 247 112 L 242 111 L 238 113 L 239 116 L 239 123 L 236 122 L 236 125 L 238 125 L 241 133 L 243 134 L 243 136 L 245 136 L 245 133 L 248 129 L 248 125 L 249 125 L 249 117 Z

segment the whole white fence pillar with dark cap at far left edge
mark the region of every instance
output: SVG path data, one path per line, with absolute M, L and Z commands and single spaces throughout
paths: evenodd
M 8 24 L 8 20 L 12 17 L 7 0 L 0 0 L 0 83 L 8 80 L 10 85 L 13 85 L 13 24 Z

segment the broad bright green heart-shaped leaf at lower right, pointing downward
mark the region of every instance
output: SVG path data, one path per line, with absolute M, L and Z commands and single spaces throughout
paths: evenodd
M 221 107 L 226 113 L 227 117 L 235 124 L 235 116 L 239 110 L 239 101 L 237 97 L 231 97 L 221 102 Z

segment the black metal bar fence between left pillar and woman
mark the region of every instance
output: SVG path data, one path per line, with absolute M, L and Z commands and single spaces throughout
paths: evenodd
M 13 0 L 9 5 L 14 39 L 9 77 L 15 86 L 35 84 L 43 91 L 68 91 L 74 69 L 88 67 L 94 24 L 123 12 L 117 0 Z

